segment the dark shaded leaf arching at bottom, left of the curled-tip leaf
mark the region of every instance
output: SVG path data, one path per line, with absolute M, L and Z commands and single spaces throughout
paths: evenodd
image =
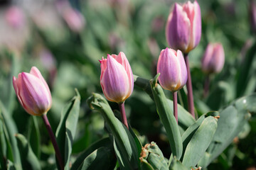
M 82 164 L 82 162 L 84 161 L 84 159 L 93 151 L 95 151 L 96 149 L 100 148 L 100 147 L 111 147 L 112 143 L 110 142 L 110 137 L 105 137 L 102 138 L 101 140 L 98 140 L 97 142 L 93 143 L 92 145 L 90 145 L 90 147 L 88 147 L 84 152 L 82 152 L 78 158 L 75 160 L 75 162 L 73 163 L 71 170 L 76 170 L 78 169 L 78 167 L 80 166 L 80 164 Z

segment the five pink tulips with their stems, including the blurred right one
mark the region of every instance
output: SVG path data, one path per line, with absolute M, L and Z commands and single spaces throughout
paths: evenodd
M 193 106 L 193 91 L 191 74 L 188 64 L 188 53 L 193 50 L 201 40 L 201 9 L 197 1 L 188 1 L 182 6 L 175 4 L 166 23 L 166 40 L 169 47 L 161 50 L 157 63 L 159 84 L 173 94 L 174 116 L 178 123 L 177 91 L 187 87 L 188 111 L 195 117 Z M 202 58 L 202 69 L 207 75 L 220 72 L 225 58 L 223 46 L 220 43 L 209 43 Z M 122 122 L 128 128 L 124 101 L 132 95 L 134 89 L 134 76 L 124 52 L 119 55 L 107 55 L 107 59 L 100 60 L 100 84 L 108 101 L 119 105 Z M 208 76 L 207 76 L 208 77 Z M 55 153 L 63 169 L 62 156 L 50 128 L 46 113 L 52 106 L 52 98 L 48 84 L 36 67 L 30 73 L 22 72 L 18 78 L 13 78 L 13 85 L 18 101 L 25 111 L 31 115 L 41 115 L 53 142 Z M 207 95 L 209 81 L 206 82 Z

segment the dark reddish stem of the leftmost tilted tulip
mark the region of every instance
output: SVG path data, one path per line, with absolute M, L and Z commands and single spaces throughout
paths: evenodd
M 53 130 L 50 127 L 50 123 L 48 121 L 47 115 L 43 114 L 42 118 L 43 118 L 43 123 L 46 125 L 46 129 L 47 129 L 47 131 L 49 133 L 50 140 L 53 143 L 53 148 L 55 150 L 55 154 L 56 154 L 56 157 L 58 159 L 58 163 L 60 165 L 60 169 L 63 170 L 64 169 L 63 159 L 61 157 L 60 149 L 59 149 L 59 147 L 57 145 L 57 142 L 56 142 L 56 139 L 55 139 L 55 135 L 53 134 Z

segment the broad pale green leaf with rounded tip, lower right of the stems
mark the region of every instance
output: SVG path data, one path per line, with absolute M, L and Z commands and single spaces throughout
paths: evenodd
M 217 129 L 217 120 L 213 116 L 208 116 L 203 120 L 198 130 L 188 143 L 182 164 L 186 167 L 196 166 L 198 161 L 203 157 L 206 149 L 210 145 L 213 135 Z

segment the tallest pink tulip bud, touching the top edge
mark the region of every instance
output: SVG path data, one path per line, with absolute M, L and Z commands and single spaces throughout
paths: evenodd
M 197 1 L 174 5 L 166 23 L 166 40 L 174 50 L 188 53 L 201 39 L 201 10 Z

